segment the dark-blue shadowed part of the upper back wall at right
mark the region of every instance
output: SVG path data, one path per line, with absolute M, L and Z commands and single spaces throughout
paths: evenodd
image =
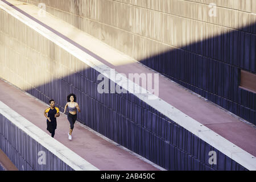
M 256 73 L 255 27 L 252 24 L 141 63 L 256 125 L 256 94 L 239 88 L 240 69 Z

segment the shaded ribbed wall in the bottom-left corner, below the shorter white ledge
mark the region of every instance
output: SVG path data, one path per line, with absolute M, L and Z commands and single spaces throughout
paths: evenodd
M 52 152 L 36 142 L 16 127 L 9 119 L 0 114 L 0 148 L 19 171 L 72 171 Z M 39 152 L 44 151 L 46 164 L 39 164 Z

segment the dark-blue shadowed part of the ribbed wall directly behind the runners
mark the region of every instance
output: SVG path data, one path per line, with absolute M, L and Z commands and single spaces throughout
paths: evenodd
M 88 68 L 26 91 L 46 103 L 55 99 L 61 111 L 75 93 L 81 123 L 168 170 L 245 170 L 133 94 L 98 93 L 99 74 Z M 212 150 L 218 162 L 210 166 Z

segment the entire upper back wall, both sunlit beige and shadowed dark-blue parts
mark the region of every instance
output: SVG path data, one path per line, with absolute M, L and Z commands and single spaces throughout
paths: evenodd
M 256 94 L 239 88 L 240 69 L 256 73 L 254 0 L 23 2 L 45 3 L 49 13 L 256 123 Z

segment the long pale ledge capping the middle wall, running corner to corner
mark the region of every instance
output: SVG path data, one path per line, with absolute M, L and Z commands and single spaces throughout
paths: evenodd
M 0 8 L 2 8 L 15 18 L 19 19 L 21 22 L 26 24 L 28 27 L 31 27 L 36 32 L 39 32 L 39 34 L 51 40 L 53 43 L 65 49 L 65 51 L 71 53 L 73 56 L 77 57 L 77 59 L 83 61 L 85 64 L 89 65 L 93 69 L 96 69 L 96 71 L 104 74 L 106 77 L 112 80 L 112 77 L 110 77 L 110 67 L 101 63 L 94 57 L 88 55 L 76 46 L 73 46 L 73 44 L 69 43 L 67 40 L 64 40 L 63 38 L 56 36 L 56 34 L 49 31 L 47 28 L 34 22 L 34 20 L 31 20 L 27 16 L 23 15 L 22 13 L 19 13 L 18 11 L 14 10 L 13 8 L 11 8 L 10 6 L 6 5 L 1 1 Z M 115 74 L 118 74 L 118 72 L 115 72 Z M 119 81 L 120 80 L 115 80 L 115 82 Z M 224 137 L 221 137 L 217 133 L 214 133 L 214 131 L 197 122 L 195 119 L 182 113 L 180 110 L 168 104 L 166 101 L 160 100 L 160 98 L 158 97 L 158 99 L 156 100 L 148 100 L 148 98 L 154 96 L 154 94 L 151 94 L 149 92 L 147 92 L 146 94 L 139 93 L 140 89 L 143 91 L 144 89 L 141 88 L 141 86 L 135 84 L 134 82 L 131 82 L 126 77 L 122 77 L 122 81 L 129 83 L 129 87 L 122 85 L 124 89 L 128 90 L 131 93 L 133 93 L 135 90 L 134 95 L 137 96 L 139 99 L 146 102 L 151 107 L 154 107 L 156 110 L 160 111 L 160 113 L 166 115 L 172 121 L 176 122 L 178 125 L 184 127 L 184 129 L 195 134 L 197 137 L 201 138 L 202 140 L 204 140 L 205 142 L 207 142 L 208 144 L 210 144 L 211 146 L 213 146 L 214 148 L 216 148 L 229 158 L 241 164 L 243 167 L 249 170 L 256 171 L 256 158 L 253 155 L 249 154 L 245 150 L 242 150 L 242 148 L 240 147 L 233 147 L 234 144 L 232 142 L 229 142 L 229 140 L 226 140 Z M 238 153 L 239 155 L 237 155 Z

